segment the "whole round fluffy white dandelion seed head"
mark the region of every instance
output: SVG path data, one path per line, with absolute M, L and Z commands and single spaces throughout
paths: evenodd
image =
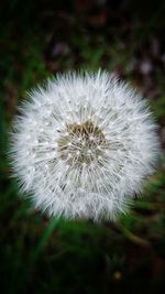
M 146 102 L 106 72 L 57 75 L 29 94 L 11 135 L 21 192 L 51 216 L 114 219 L 153 172 Z

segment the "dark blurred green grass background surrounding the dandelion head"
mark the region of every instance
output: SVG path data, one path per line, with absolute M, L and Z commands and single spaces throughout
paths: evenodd
M 165 293 L 165 160 L 117 224 L 47 219 L 10 179 L 8 131 L 25 91 L 56 72 L 114 72 L 148 99 L 165 146 L 165 2 L 0 3 L 1 293 Z

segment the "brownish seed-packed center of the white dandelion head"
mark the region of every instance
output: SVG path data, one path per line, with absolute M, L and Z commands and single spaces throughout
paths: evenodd
M 101 129 L 91 121 L 68 123 L 57 142 L 58 153 L 68 165 L 87 165 L 100 159 L 105 141 Z

